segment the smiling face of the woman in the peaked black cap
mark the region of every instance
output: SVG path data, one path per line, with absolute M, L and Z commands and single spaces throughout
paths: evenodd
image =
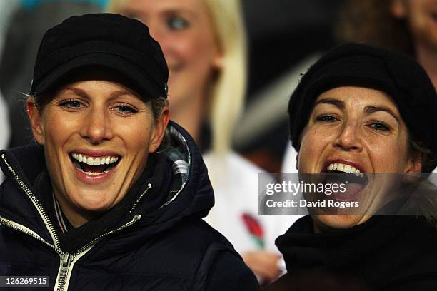
M 63 86 L 39 111 L 27 102 L 34 137 L 44 146 L 54 194 L 74 226 L 124 198 L 159 147 L 168 110 L 112 81 Z

